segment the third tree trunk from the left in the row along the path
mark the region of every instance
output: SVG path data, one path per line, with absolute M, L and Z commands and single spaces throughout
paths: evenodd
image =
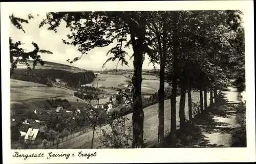
M 174 11 L 174 25 L 178 22 L 178 13 Z M 170 95 L 170 133 L 172 135 L 172 147 L 176 147 L 176 96 L 177 96 L 177 79 L 178 79 L 178 68 L 177 68 L 177 56 L 178 56 L 178 31 L 177 26 L 173 29 L 173 59 L 174 59 L 174 79 L 172 81 L 172 93 Z

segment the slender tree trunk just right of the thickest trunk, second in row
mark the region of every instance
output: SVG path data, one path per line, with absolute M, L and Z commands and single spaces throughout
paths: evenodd
M 166 43 L 166 21 L 165 14 L 163 18 L 163 52 L 161 50 L 161 40 L 158 37 L 159 53 L 160 53 L 160 74 L 159 74 L 159 91 L 158 91 L 158 147 L 163 148 L 164 143 L 164 77 L 165 77 L 165 60 L 167 56 L 167 43 Z

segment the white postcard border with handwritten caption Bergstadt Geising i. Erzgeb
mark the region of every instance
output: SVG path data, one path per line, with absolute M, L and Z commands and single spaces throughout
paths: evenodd
M 247 148 L 170 148 L 170 149 L 10 149 L 9 13 L 49 11 L 138 11 L 138 10 L 242 10 L 246 52 Z M 3 163 L 129 163 L 129 162 L 244 162 L 255 161 L 253 1 L 173 1 L 173 2 L 32 2 L 1 3 L 2 137 Z M 15 158 L 14 152 L 43 153 L 45 157 Z M 47 159 L 49 152 L 70 153 L 70 157 Z M 89 159 L 78 152 L 94 153 Z M 72 154 L 75 157 L 72 157 Z

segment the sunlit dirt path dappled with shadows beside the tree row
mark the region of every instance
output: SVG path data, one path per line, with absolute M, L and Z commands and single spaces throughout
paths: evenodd
M 229 87 L 221 92 L 221 98 L 215 107 L 206 114 L 206 118 L 196 121 L 200 131 L 191 147 L 230 147 L 231 130 L 240 126 L 236 121 L 237 110 L 234 108 L 241 101 L 239 92 Z

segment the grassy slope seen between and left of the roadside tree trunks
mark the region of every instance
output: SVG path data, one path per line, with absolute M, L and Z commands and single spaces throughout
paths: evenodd
M 198 92 L 192 92 L 191 97 L 193 102 L 197 102 L 200 99 Z M 207 105 L 209 105 L 209 93 L 207 93 L 208 101 Z M 180 96 L 177 97 L 176 103 L 176 118 L 177 118 L 177 128 L 179 128 L 179 100 Z M 170 100 L 165 100 L 164 102 L 164 128 L 165 131 L 170 129 Z M 185 104 L 185 116 L 188 118 L 188 106 L 187 106 L 187 95 L 186 95 L 186 104 Z M 129 121 L 127 121 L 126 125 L 132 126 L 132 114 L 127 115 Z M 94 148 L 100 145 L 99 135 L 100 129 L 108 129 L 109 126 L 105 125 L 102 127 L 96 128 L 96 134 L 94 138 Z M 143 138 L 146 139 L 148 143 L 156 143 L 157 142 L 157 133 L 158 133 L 158 104 L 154 104 L 144 108 L 144 134 Z M 63 142 L 59 145 L 60 149 L 85 149 L 90 148 L 91 140 L 89 140 L 90 136 L 92 136 L 92 130 L 84 133 L 72 140 L 67 142 Z M 52 149 L 56 149 L 56 147 L 52 147 Z

